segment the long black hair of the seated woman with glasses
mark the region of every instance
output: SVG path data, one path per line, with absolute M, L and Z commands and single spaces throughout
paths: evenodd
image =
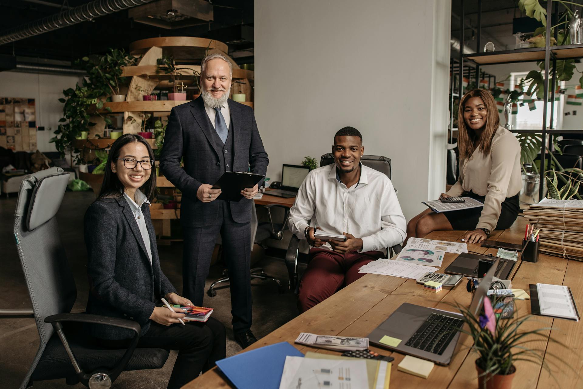
M 99 191 L 99 196 L 97 200 L 100 199 L 117 199 L 124 195 L 124 185 L 117 178 L 117 174 L 111 171 L 111 162 L 115 161 L 115 158 L 120 157 L 121 148 L 128 143 L 139 142 L 142 143 L 147 148 L 147 153 L 150 155 L 150 160 L 156 162 L 154 158 L 154 151 L 150 144 L 146 142 L 143 137 L 135 134 L 125 134 L 111 145 L 109 155 L 107 157 L 106 172 L 103 176 L 103 183 L 101 184 L 101 190 Z M 152 165 L 152 169 L 156 169 L 155 165 Z M 154 193 L 156 193 L 156 170 L 150 174 L 150 178 L 146 181 L 144 185 L 141 186 L 140 190 L 144 195 L 146 195 L 148 200 L 154 198 Z

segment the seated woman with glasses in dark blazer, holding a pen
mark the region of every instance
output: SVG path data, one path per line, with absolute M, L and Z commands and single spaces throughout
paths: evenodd
M 85 214 L 89 263 L 87 313 L 137 321 L 142 327 L 138 347 L 178 350 L 168 388 L 180 388 L 225 357 L 226 333 L 220 321 L 184 321 L 179 308 L 192 306 L 179 296 L 160 268 L 156 236 L 150 220 L 150 199 L 156 192 L 154 153 L 139 135 L 119 137 L 109 152 L 103 185 Z M 125 348 L 134 332 L 92 324 L 99 344 Z

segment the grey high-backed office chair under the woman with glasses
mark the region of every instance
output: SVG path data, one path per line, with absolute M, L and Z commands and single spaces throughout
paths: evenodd
M 108 389 L 122 371 L 159 369 L 168 358 L 164 349 L 136 349 L 141 327 L 135 321 L 71 313 L 77 289 L 55 217 L 68 181 L 68 172 L 52 167 L 20 184 L 13 231 L 33 309 L 0 310 L 0 316 L 36 321 L 40 345 L 20 389 L 62 378 L 69 385 Z M 105 349 L 87 338 L 82 323 L 128 328 L 135 336 L 128 349 Z

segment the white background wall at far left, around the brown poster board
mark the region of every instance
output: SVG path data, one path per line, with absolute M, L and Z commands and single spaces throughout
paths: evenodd
M 74 88 L 79 81 L 78 76 L 0 72 L 0 96 L 34 98 L 36 125 L 45 128 L 37 131 L 38 150 L 57 151 L 48 141 L 54 136 L 52 132 L 63 114 L 63 105 L 58 99 L 63 97 L 64 89 Z

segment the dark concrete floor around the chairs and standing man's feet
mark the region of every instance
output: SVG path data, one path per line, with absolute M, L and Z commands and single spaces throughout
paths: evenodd
M 83 215 L 95 199 L 93 192 L 66 192 L 61 210 L 57 214 L 62 241 L 65 245 L 69 265 L 78 290 L 73 312 L 83 312 L 87 303 L 87 254 L 83 242 Z M 16 246 L 12 238 L 13 214 L 16 195 L 0 197 L 0 307 L 30 308 L 30 298 Z M 161 267 L 164 274 L 177 288 L 182 289 L 182 244 L 159 246 Z M 265 272 L 279 278 L 287 285 L 287 270 L 282 259 L 264 257 L 255 266 L 261 266 Z M 206 288 L 213 280 L 220 277 L 222 268 L 215 265 L 210 269 Z M 296 298 L 290 293 L 278 293 L 275 282 L 252 280 L 253 326 L 251 330 L 261 338 L 276 328 L 287 323 L 297 315 Z M 205 295 L 205 306 L 215 308 L 213 317 L 222 321 L 227 328 L 227 356 L 241 350 L 233 340 L 230 314 L 229 289 L 217 289 L 217 295 L 210 298 Z M 17 388 L 20 386 L 38 349 L 38 333 L 34 319 L 0 318 L 0 387 Z M 176 358 L 171 352 L 166 365 L 160 370 L 140 370 L 125 372 L 115 381 L 115 388 L 150 389 L 166 388 L 168 377 Z M 81 384 L 67 386 L 65 380 L 38 381 L 34 388 L 83 388 Z

